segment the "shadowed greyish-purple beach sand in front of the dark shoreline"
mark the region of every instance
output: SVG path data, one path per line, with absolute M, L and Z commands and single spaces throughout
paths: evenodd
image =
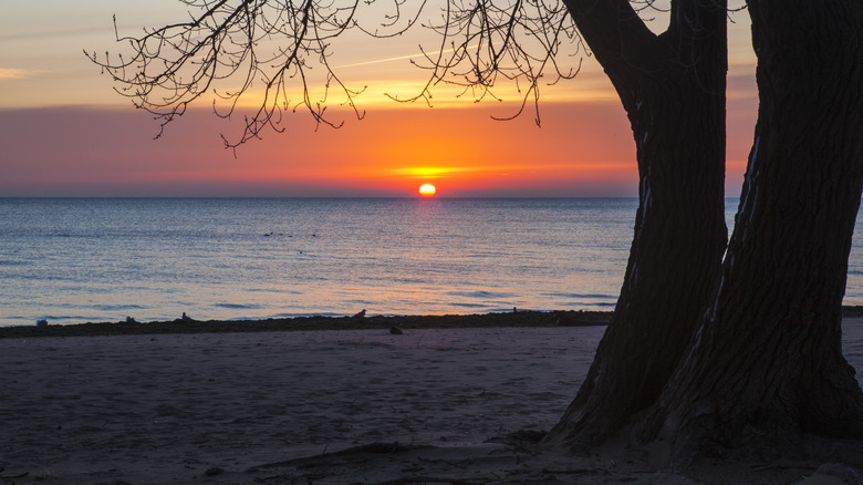
M 557 422 L 603 331 L 2 339 L 0 483 L 696 483 L 625 457 L 505 443 Z M 844 331 L 860 379 L 863 319 Z M 740 464 L 697 481 L 851 483 L 855 473 L 820 465 Z

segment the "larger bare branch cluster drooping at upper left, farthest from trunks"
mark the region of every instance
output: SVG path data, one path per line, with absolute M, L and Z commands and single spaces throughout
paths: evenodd
M 87 53 L 118 83 L 116 91 L 152 113 L 162 130 L 207 96 L 214 97 L 214 111 L 225 118 L 257 106 L 246 116 L 239 138 L 222 136 L 229 148 L 259 138 L 269 128 L 283 131 L 282 114 L 288 110 L 303 109 L 319 124 L 337 126 L 325 116 L 331 86 L 342 93 L 342 104 L 362 117 L 355 97 L 363 90 L 349 89 L 335 75 L 327 62 L 329 45 L 344 31 L 361 27 L 354 16 L 375 0 L 181 1 L 189 8 L 187 21 L 146 29 L 139 37 L 117 33 L 131 55 Z M 401 6 L 404 0 L 388 1 Z M 310 81 L 315 65 L 323 66 L 323 75 Z M 322 100 L 313 100 L 316 79 L 325 84 Z M 291 93 L 299 93 L 298 101 L 291 101 Z

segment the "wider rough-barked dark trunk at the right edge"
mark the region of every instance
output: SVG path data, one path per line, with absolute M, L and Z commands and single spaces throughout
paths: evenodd
M 643 438 L 863 437 L 841 305 L 863 188 L 863 3 L 751 0 L 759 118 L 720 288 Z

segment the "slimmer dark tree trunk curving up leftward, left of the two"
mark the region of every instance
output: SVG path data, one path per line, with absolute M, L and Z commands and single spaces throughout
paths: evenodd
M 607 438 L 655 402 L 718 282 L 727 239 L 725 7 L 675 2 L 676 20 L 655 37 L 626 1 L 588 3 L 569 7 L 630 117 L 641 185 L 614 317 L 547 437 L 570 447 Z

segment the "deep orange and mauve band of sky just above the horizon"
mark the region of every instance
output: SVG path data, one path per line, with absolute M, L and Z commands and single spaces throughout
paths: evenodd
M 293 116 L 288 131 L 241 146 L 208 111 L 152 140 L 146 115 L 111 109 L 0 111 L 6 196 L 634 196 L 635 149 L 616 103 L 549 103 L 495 121 L 488 110 L 376 109 L 340 130 Z M 497 112 L 495 114 L 500 114 Z M 745 141 L 746 131 L 738 137 Z M 729 147 L 734 148 L 734 146 Z M 729 154 L 739 190 L 748 143 Z M 732 156 L 737 161 L 732 159 Z

